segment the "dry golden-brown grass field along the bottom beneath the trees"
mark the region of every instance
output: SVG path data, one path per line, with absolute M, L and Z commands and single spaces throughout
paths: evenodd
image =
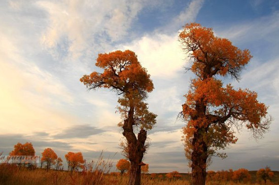
M 274 177 L 271 182 L 266 184 L 279 184 L 279 172 L 273 171 Z M 219 182 L 219 181 L 207 181 L 206 184 L 220 184 L 220 185 L 233 185 L 233 184 L 260 184 L 256 182 L 256 171 L 249 172 L 252 179 L 248 183 L 241 182 Z M 182 176 L 179 179 L 166 177 L 166 173 L 153 174 L 143 174 L 142 184 L 189 184 L 190 185 L 190 175 L 187 173 L 180 173 Z M 34 168 L 28 169 L 26 167 L 18 167 L 16 165 L 0 165 L 0 184 L 10 184 L 10 185 L 48 185 L 48 184 L 127 184 L 128 176 L 127 174 L 120 175 L 119 173 L 104 174 L 101 170 L 94 171 L 84 171 L 84 172 L 69 172 L 62 170 L 49 170 Z M 264 184 L 264 183 L 262 183 Z

